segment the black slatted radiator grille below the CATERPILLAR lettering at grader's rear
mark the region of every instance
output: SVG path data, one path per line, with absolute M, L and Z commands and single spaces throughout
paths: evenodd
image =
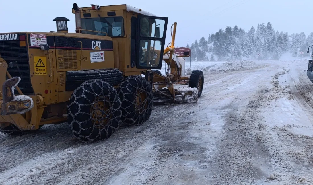
M 21 78 L 18 87 L 23 94 L 32 95 L 34 92 L 30 80 L 27 47 L 20 46 L 19 40 L 0 41 L 0 55 L 8 64 L 8 72 L 10 75 L 12 77 L 18 76 Z M 15 90 L 15 94 L 19 94 L 17 90 Z

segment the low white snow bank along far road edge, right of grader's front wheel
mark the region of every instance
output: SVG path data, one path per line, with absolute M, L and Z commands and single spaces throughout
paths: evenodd
M 200 62 L 199 62 L 200 63 Z M 254 61 L 228 61 L 221 64 L 212 62 L 201 62 L 203 64 L 192 66 L 186 69 L 186 75 L 190 75 L 192 70 L 202 70 L 204 74 L 220 73 L 228 71 L 238 71 L 244 69 L 254 69 L 260 67 Z M 212 65 L 213 64 L 213 65 Z

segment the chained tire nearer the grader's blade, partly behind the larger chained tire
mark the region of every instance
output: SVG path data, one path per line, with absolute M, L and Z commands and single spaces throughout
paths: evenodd
M 153 105 L 152 87 L 142 76 L 129 76 L 119 89 L 121 121 L 127 126 L 136 126 L 147 121 Z

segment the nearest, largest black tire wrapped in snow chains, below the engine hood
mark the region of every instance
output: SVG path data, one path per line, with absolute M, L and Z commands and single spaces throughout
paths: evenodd
M 118 128 L 121 102 L 117 91 L 102 80 L 88 80 L 69 99 L 68 123 L 80 141 L 109 138 Z

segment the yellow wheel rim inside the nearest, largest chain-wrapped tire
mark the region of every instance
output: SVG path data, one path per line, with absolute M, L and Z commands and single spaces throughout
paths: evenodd
M 96 100 L 91 106 L 91 118 L 94 126 L 102 129 L 104 128 L 112 115 L 110 114 L 110 103 L 108 100 Z

